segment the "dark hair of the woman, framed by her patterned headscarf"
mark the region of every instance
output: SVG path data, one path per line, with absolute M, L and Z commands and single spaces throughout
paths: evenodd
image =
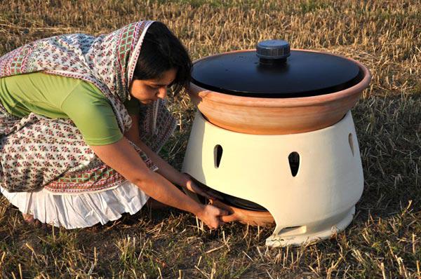
M 162 22 L 154 22 L 143 39 L 133 79 L 159 79 L 169 69 L 177 69 L 171 84 L 176 95 L 190 81 L 192 60 L 173 32 Z

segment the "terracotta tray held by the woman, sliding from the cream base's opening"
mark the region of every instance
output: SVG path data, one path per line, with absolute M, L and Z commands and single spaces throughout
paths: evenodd
M 220 207 L 229 212 L 229 215 L 222 216 L 223 222 L 235 222 L 238 221 L 243 224 L 249 224 L 250 226 L 272 226 L 274 224 L 274 217 L 269 211 L 254 211 L 244 210 L 242 208 L 226 205 L 220 200 L 210 200 L 210 204 Z

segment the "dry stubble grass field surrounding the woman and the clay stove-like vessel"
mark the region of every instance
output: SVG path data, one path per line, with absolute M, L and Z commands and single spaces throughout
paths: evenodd
M 353 115 L 365 177 L 352 224 L 306 247 L 265 247 L 270 229 L 209 231 L 178 210 L 89 229 L 34 229 L 0 196 L 1 278 L 421 278 L 421 4 L 410 1 L 0 0 L 0 55 L 55 34 L 166 23 L 193 59 L 286 39 L 366 64 Z M 162 156 L 181 168 L 194 107 Z

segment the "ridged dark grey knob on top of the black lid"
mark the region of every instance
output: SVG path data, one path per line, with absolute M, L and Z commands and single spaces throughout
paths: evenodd
M 282 40 L 261 41 L 256 48 L 256 55 L 261 60 L 286 60 L 290 55 L 290 45 Z

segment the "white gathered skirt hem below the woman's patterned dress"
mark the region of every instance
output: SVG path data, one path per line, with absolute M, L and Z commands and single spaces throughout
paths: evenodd
M 42 223 L 66 229 L 86 228 L 105 224 L 128 212 L 138 212 L 149 199 L 131 182 L 95 193 L 57 194 L 42 189 L 37 192 L 10 193 L 0 186 L 0 192 L 20 212 L 34 215 Z

